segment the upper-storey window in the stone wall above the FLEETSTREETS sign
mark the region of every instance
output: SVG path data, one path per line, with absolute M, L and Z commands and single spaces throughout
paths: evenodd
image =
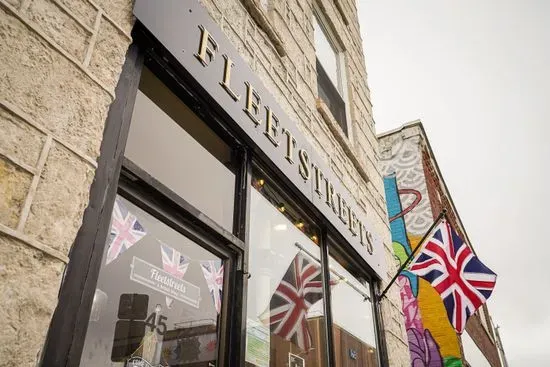
M 320 19 L 322 19 L 320 15 L 313 17 L 317 90 L 319 98 L 327 105 L 332 116 L 347 135 L 344 55 L 336 46 L 337 42 L 330 37 L 328 27 Z

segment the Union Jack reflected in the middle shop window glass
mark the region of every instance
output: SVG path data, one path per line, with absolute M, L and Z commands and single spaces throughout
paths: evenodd
M 260 320 L 273 334 L 296 344 L 304 351 L 311 348 L 307 311 L 323 298 L 321 267 L 298 253 L 288 267 Z

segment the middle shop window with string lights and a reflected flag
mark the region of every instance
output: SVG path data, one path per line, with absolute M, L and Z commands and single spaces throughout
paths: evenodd
M 265 175 L 253 186 L 246 366 L 324 366 L 318 229 Z

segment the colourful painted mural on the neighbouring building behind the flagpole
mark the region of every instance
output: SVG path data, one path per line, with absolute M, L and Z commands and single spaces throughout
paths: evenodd
M 420 137 L 395 139 L 382 152 L 384 187 L 395 257 L 402 264 L 433 223 Z M 436 214 L 437 216 L 437 214 Z M 437 292 L 403 271 L 400 287 L 412 367 L 462 366 L 460 345 Z

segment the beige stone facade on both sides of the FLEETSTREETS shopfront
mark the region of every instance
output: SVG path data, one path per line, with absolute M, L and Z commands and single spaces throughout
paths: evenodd
M 355 2 L 201 2 L 383 236 L 389 279 L 396 267 Z M 349 138 L 317 99 L 314 7 L 345 49 Z M 131 42 L 131 8 L 131 0 L 0 0 L 0 251 L 10 255 L 0 257 L 0 315 L 10 325 L 2 363 L 31 365 L 43 342 Z M 396 289 L 382 309 L 390 364 L 406 366 Z

